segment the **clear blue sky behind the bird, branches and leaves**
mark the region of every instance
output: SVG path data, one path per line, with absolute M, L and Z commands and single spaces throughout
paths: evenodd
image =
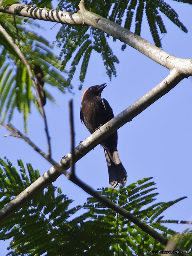
M 175 1 L 168 3 L 178 12 L 180 20 L 188 28 L 188 33 L 182 32 L 163 16 L 168 34 L 162 36 L 162 48 L 175 56 L 192 59 L 192 6 Z M 41 24 L 46 30 L 42 30 L 40 33 L 50 42 L 54 41 L 54 35 L 60 24 L 52 30 L 50 27 L 54 23 L 42 22 Z M 142 25 L 141 36 L 152 42 L 146 19 Z M 100 55 L 93 53 L 81 91 L 78 90 L 78 72 L 72 81 L 73 93 L 62 94 L 56 88 L 45 85 L 57 100 L 57 105 L 48 101 L 45 105 L 51 135 L 52 157 L 56 161 L 70 151 L 68 101 L 71 98 L 74 100 L 77 146 L 80 141 L 89 136 L 88 130 L 81 124 L 79 118 L 81 96 L 86 88 L 95 84 L 108 83 L 102 92 L 102 97 L 108 100 L 114 114 L 117 115 L 169 74 L 168 69 L 130 46 L 127 46 L 122 52 L 121 42 L 114 43 L 112 39 L 110 42 L 114 53 L 120 60 L 120 63 L 116 65 L 117 76 L 113 77 L 112 81 L 109 81 L 105 73 Z M 117 148 L 128 174 L 127 184 L 152 176 L 156 182 L 156 191 L 159 193 L 156 201 L 167 202 L 181 196 L 188 196 L 187 199 L 166 210 L 164 212 L 165 219 L 189 220 L 191 218 L 191 95 L 192 78 L 189 77 L 118 130 Z M 15 111 L 12 124 L 22 131 L 22 116 L 17 111 Z M 3 145 L 0 147 L 1 157 L 7 156 L 16 167 L 17 159 L 21 158 L 24 163 L 31 163 L 34 169 L 38 169 L 41 174 L 51 167 L 24 141 L 13 137 L 4 138 L 3 135 L 8 133 L 4 128 L 0 128 L 0 143 Z M 28 136 L 46 151 L 43 121 L 34 107 L 28 119 Z M 102 147 L 97 146 L 91 150 L 76 163 L 75 167 L 78 177 L 93 188 L 109 186 L 107 164 Z M 61 187 L 62 192 L 74 200 L 73 205 L 83 204 L 89 196 L 81 188 L 67 180 L 64 175 L 60 176 L 54 185 Z M 180 231 L 184 225 L 172 224 L 169 227 Z M 7 242 L 0 241 L 2 255 L 6 255 L 7 246 Z

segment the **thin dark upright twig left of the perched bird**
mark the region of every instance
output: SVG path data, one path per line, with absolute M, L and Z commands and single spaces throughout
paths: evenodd
M 75 132 L 74 132 L 74 119 L 73 119 L 73 100 L 69 100 L 69 122 L 70 122 L 70 134 L 71 134 L 71 172 L 69 174 L 70 178 L 75 175 Z

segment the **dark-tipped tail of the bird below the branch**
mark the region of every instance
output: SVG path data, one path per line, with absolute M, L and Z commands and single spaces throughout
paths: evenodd
M 108 148 L 104 148 L 105 157 L 107 161 L 109 184 L 111 188 L 116 188 L 119 183 L 125 184 L 127 179 L 127 172 L 121 163 L 117 149 L 111 153 Z

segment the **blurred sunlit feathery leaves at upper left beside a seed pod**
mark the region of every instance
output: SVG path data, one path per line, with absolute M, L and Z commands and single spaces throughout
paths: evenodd
M 53 54 L 52 46 L 46 39 L 29 30 L 29 26 L 39 28 L 39 25 L 30 19 L 4 13 L 0 13 L 0 24 L 12 37 L 15 47 L 19 47 L 25 55 L 31 69 L 34 64 L 40 65 L 44 71 L 45 83 L 65 92 L 68 85 L 60 72 L 61 61 Z M 0 34 L 0 42 L 0 119 L 10 122 L 14 109 L 17 108 L 23 115 L 25 132 L 27 132 L 27 116 L 31 111 L 31 102 L 39 109 L 36 92 L 32 87 L 27 68 L 19 59 L 14 47 L 2 34 Z M 55 102 L 46 88 L 44 89 L 47 97 Z

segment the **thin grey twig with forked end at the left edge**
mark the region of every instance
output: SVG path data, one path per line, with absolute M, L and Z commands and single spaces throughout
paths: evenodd
M 12 124 L 5 124 L 0 121 L 0 124 L 4 126 L 11 134 L 6 134 L 4 137 L 12 136 L 25 140 L 36 152 L 38 152 L 41 156 L 43 156 L 50 164 L 55 165 L 56 162 L 48 156 L 44 151 L 42 151 L 36 144 L 30 140 L 27 136 L 25 136 L 22 132 L 20 132 L 17 128 L 15 128 Z

